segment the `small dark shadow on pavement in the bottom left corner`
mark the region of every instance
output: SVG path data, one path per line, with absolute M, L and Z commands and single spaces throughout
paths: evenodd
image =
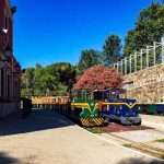
M 0 152 L 0 164 L 21 164 L 19 160 L 9 156 L 7 153 Z

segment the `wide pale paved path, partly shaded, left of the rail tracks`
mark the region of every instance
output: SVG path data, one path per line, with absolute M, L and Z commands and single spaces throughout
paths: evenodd
M 139 163 L 162 164 L 102 140 L 51 112 L 0 121 L 0 164 Z

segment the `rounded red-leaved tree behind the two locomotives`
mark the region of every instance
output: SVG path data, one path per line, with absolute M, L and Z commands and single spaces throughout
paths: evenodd
M 94 66 L 87 69 L 78 82 L 74 90 L 105 90 L 115 89 L 121 85 L 122 79 L 115 69 L 104 66 Z

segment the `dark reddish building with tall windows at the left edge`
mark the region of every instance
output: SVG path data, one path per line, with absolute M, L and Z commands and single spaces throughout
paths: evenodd
M 19 109 L 21 67 L 13 55 L 13 14 L 16 8 L 0 0 L 0 117 Z

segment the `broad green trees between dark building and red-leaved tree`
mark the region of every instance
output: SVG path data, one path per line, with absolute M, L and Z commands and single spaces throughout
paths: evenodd
M 67 95 L 75 81 L 75 67 L 67 62 L 36 65 L 22 73 L 22 96 Z

